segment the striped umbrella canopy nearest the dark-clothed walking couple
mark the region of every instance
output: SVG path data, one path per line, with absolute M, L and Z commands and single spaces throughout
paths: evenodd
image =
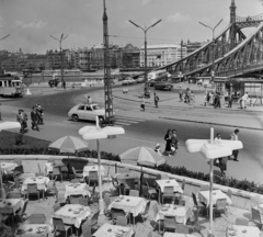
M 141 166 L 158 167 L 165 163 L 165 159 L 150 147 L 135 147 L 119 155 L 122 162 L 137 162 Z

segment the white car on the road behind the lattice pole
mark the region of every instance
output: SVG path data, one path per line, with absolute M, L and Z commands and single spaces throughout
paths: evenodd
M 115 115 L 115 112 L 113 114 Z M 99 116 L 100 120 L 104 121 L 105 109 L 101 108 L 96 103 L 77 104 L 70 109 L 70 111 L 68 112 L 68 116 L 71 117 L 75 122 L 79 120 L 95 121 L 96 116 Z

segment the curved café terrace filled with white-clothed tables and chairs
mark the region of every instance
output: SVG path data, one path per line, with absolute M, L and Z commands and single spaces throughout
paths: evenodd
M 84 222 L 80 222 L 79 225 L 77 225 L 78 228 L 76 227 L 76 225 L 73 225 L 73 223 L 71 223 L 71 227 L 73 230 L 72 236 L 100 236 L 102 235 L 102 233 L 105 236 L 124 237 L 140 237 L 148 235 L 156 237 L 213 236 L 208 233 L 209 216 L 207 211 L 208 200 L 206 199 L 206 193 L 208 192 L 207 189 L 209 188 L 208 183 L 193 180 L 190 178 L 160 172 L 149 168 L 142 168 L 107 160 L 102 160 L 102 174 L 104 180 L 103 198 L 105 211 L 103 215 L 99 215 L 98 223 L 91 228 L 90 224 L 94 219 L 96 221 L 94 214 L 99 211 L 99 189 L 96 185 L 94 185 L 94 183 L 96 183 L 98 181 L 98 177 L 94 177 L 92 179 L 91 174 L 92 171 L 94 172 L 98 169 L 96 159 L 87 159 L 79 157 L 70 157 L 70 159 L 62 158 L 65 157 L 23 156 L 20 157 L 20 160 L 22 160 L 21 163 L 15 156 L 2 156 L 2 163 L 5 163 L 5 167 L 8 167 L 8 163 L 16 163 L 18 167 L 23 167 L 23 173 L 19 174 L 19 172 L 15 172 L 20 181 L 18 183 L 18 187 L 14 185 L 13 188 L 11 188 L 10 182 L 8 182 L 8 177 L 13 177 L 13 171 L 5 170 L 5 176 L 3 176 L 5 192 L 12 194 L 16 193 L 19 190 L 22 195 L 22 200 L 24 200 L 23 194 L 26 194 L 25 184 L 28 183 L 28 179 L 32 179 L 31 182 L 34 182 L 37 181 L 41 176 L 39 180 L 47 179 L 47 181 L 49 181 L 48 179 L 52 180 L 57 177 L 55 181 L 55 187 L 57 190 L 56 198 L 52 192 L 54 191 L 52 181 L 46 182 L 42 188 L 38 185 L 38 183 L 37 189 L 41 191 L 41 199 L 38 200 L 37 195 L 33 194 L 26 196 L 26 199 L 28 199 L 28 202 L 24 212 L 25 215 L 22 216 L 22 219 L 18 217 L 19 208 L 15 210 L 13 214 L 11 213 L 10 216 L 13 217 L 13 222 L 12 218 L 9 218 L 5 224 L 14 227 L 13 229 L 15 236 L 30 236 L 30 232 L 23 234 L 18 233 L 18 229 L 25 228 L 26 230 L 28 230 L 31 228 L 30 226 L 32 225 L 30 225 L 30 223 L 32 222 L 32 218 L 30 216 L 32 214 L 44 214 L 46 218 L 45 225 L 48 226 L 48 229 L 46 229 L 46 232 L 38 234 L 34 234 L 35 229 L 33 228 L 32 236 L 54 236 L 54 223 L 52 222 L 52 219 L 54 216 L 59 216 L 55 215 L 55 213 L 58 212 L 55 211 L 55 208 L 58 207 L 60 212 L 65 212 L 64 208 L 68 210 L 69 207 L 67 205 L 69 203 L 78 203 L 78 200 L 81 199 L 82 195 L 89 196 L 87 199 L 87 205 L 84 205 L 89 208 L 89 212 L 83 217 L 83 219 L 85 217 L 88 217 L 88 219 Z M 70 161 L 69 177 L 67 173 L 68 161 Z M 56 165 L 54 166 L 54 163 L 59 163 L 59 170 L 61 171 L 62 176 L 60 176 L 60 171 L 59 176 L 55 176 L 56 169 L 54 169 L 54 167 L 56 167 Z M 15 168 L 16 170 L 19 170 L 18 167 Z M 75 176 L 75 173 L 71 172 L 72 167 L 76 167 L 77 170 L 81 171 L 77 172 Z M 62 172 L 64 170 L 65 172 Z M 47 172 L 49 172 L 49 176 L 47 176 Z M 54 176 L 52 176 L 53 172 Z M 83 174 L 88 178 L 83 179 Z M 147 184 L 149 185 L 149 189 Z M 173 187 L 173 191 L 175 192 L 167 192 L 164 190 L 165 185 Z M 253 210 L 260 210 L 260 204 L 263 203 L 260 196 L 256 195 L 254 198 L 255 194 L 235 189 L 228 189 L 227 187 L 220 187 L 217 184 L 215 184 L 214 188 L 215 190 L 213 192 L 215 192 L 215 204 L 217 199 L 224 198 L 227 201 L 227 205 L 222 204 L 220 206 L 220 204 L 217 203 L 217 210 L 215 205 L 214 210 L 216 212 L 213 221 L 214 236 L 225 237 L 235 236 L 235 234 L 236 236 L 261 236 L 261 214 L 259 213 L 259 216 L 256 217 L 255 213 L 253 213 L 253 215 L 251 213 L 252 206 L 254 207 Z M 45 189 L 47 189 L 47 191 L 44 192 L 45 195 L 43 198 L 42 191 Z M 130 190 L 137 190 L 138 192 Z M 163 194 L 163 191 L 167 193 Z M 149 195 L 149 193 L 151 195 Z M 195 203 L 192 193 L 195 193 L 197 202 L 203 202 L 203 204 Z M 7 198 L 9 198 L 9 195 L 11 194 L 8 194 Z M 81 198 L 77 198 L 76 200 L 71 196 L 72 194 L 81 194 Z M 122 194 L 123 198 L 119 198 L 119 194 Z M 65 199 L 65 196 L 67 196 L 67 199 Z M 5 200 L 5 202 L 9 202 L 8 199 Z M 148 202 L 150 202 L 149 210 L 146 210 Z M 127 219 L 122 216 L 122 214 L 112 213 L 113 210 L 117 207 L 124 211 Z M 22 205 L 21 208 L 23 208 Z M 165 213 L 168 213 L 167 216 L 173 216 L 175 218 L 165 217 Z M 122 217 L 117 218 L 116 215 L 121 215 Z M 94 216 L 93 219 L 92 216 Z M 112 217 L 116 218 L 116 222 L 114 222 Z M 164 218 L 165 221 L 163 221 Z M 108 226 L 105 223 L 114 224 L 114 226 Z M 127 229 L 124 228 L 126 233 L 121 232 L 119 234 L 118 230 L 123 228 L 119 226 L 125 225 L 127 225 Z M 171 225 L 171 228 L 169 228 L 169 225 Z M 229 227 L 232 227 L 232 225 L 236 230 L 228 229 Z M 108 233 L 104 233 L 105 229 L 103 230 L 103 228 L 106 228 L 106 230 L 111 230 Z M 100 230 L 98 232 L 98 229 Z M 90 234 L 90 232 L 92 234 Z M 111 232 L 116 233 L 113 235 L 113 233 Z M 180 235 L 180 233 L 183 235 Z M 186 233 L 190 234 L 184 235 Z M 58 234 L 59 236 L 65 236 L 65 233 L 62 232 L 57 232 L 56 236 L 58 236 Z

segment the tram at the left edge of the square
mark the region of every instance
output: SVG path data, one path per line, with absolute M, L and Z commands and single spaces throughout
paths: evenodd
M 0 75 L 1 97 L 23 97 L 24 86 L 22 80 L 11 75 Z

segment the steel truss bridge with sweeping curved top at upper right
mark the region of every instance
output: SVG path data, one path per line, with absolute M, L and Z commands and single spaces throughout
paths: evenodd
M 255 27 L 248 37 L 244 27 Z M 215 52 L 215 77 L 258 77 L 263 72 L 263 13 L 236 16 L 224 31 L 192 54 L 158 69 L 168 70 L 173 78 L 210 77 Z

